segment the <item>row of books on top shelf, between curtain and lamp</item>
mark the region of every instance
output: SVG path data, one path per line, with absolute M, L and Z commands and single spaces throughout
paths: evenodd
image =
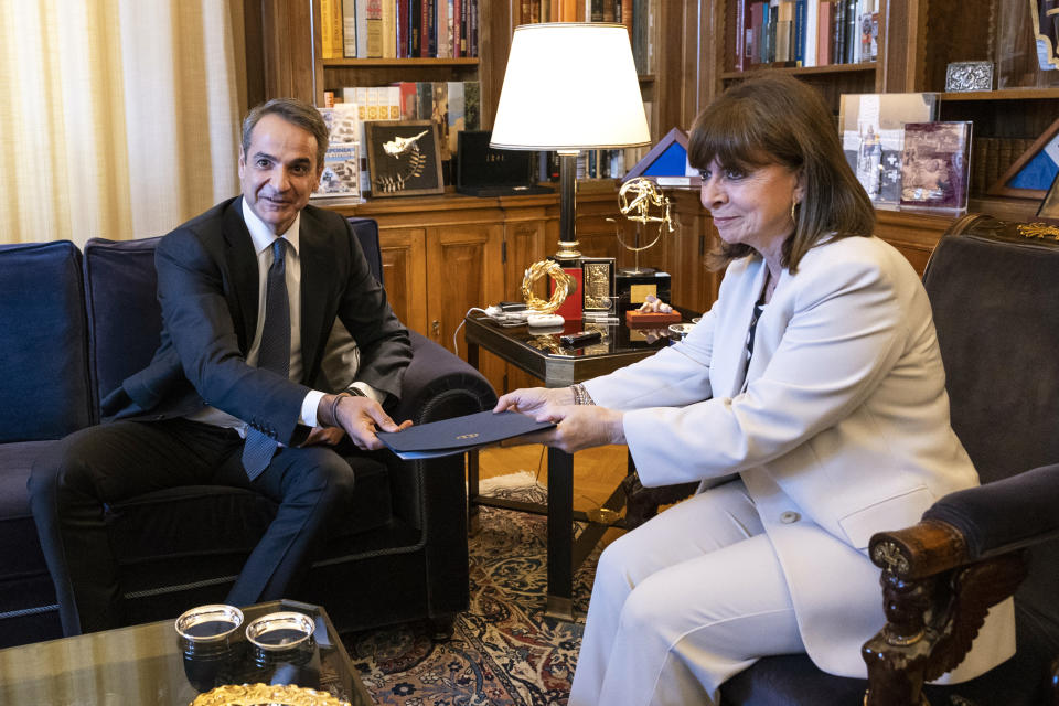
M 320 0 L 323 58 L 478 56 L 478 0 Z

